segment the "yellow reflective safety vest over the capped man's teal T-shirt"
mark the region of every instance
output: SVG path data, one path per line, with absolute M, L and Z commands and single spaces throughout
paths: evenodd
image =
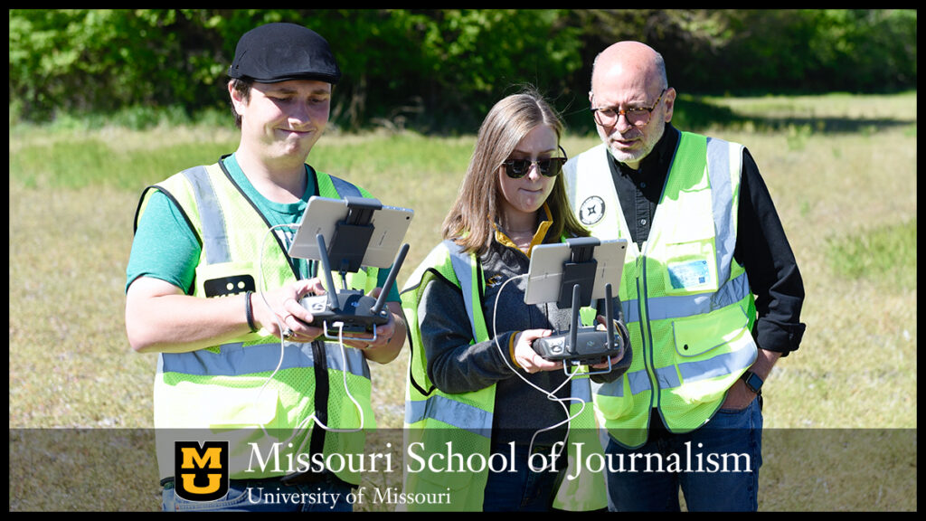
M 369 197 L 357 186 L 325 173 L 316 172 L 316 178 L 321 197 Z M 296 280 L 296 268 L 280 239 L 271 232 L 276 240 L 265 240 L 269 224 L 218 163 L 177 173 L 146 188 L 136 227 L 154 190 L 174 201 L 200 238 L 194 297 L 215 295 L 209 288 L 217 284 L 228 286 L 225 295 L 234 295 L 244 293 L 248 285 L 259 291 Z M 375 287 L 376 269 L 367 272 L 349 273 L 348 286 L 367 291 Z M 254 286 L 258 281 L 262 287 Z M 257 291 L 254 305 L 263 305 Z M 310 450 L 320 450 L 326 458 L 332 453 L 362 453 L 365 435 L 360 413 L 344 392 L 344 378 L 362 409 L 363 429 L 375 428 L 369 366 L 359 349 L 345 348 L 342 360 L 337 343 L 281 345 L 279 338 L 261 329 L 211 348 L 159 353 L 154 416 L 162 480 L 174 475 L 176 441 L 228 442 L 232 479 L 305 470 L 298 457 L 302 455 L 303 463 L 309 461 Z M 320 401 L 325 394 L 327 401 Z M 320 416 L 314 416 L 317 413 Z M 316 429 L 313 417 L 347 432 Z M 252 443 L 257 443 L 257 454 Z M 260 459 L 273 463 L 261 465 Z M 360 482 L 359 474 L 349 468 L 335 474 L 348 483 Z

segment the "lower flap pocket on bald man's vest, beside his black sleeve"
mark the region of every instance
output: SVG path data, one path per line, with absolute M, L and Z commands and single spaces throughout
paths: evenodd
M 705 354 L 740 337 L 747 324 L 748 318 L 738 305 L 676 320 L 672 323 L 675 350 L 686 358 Z

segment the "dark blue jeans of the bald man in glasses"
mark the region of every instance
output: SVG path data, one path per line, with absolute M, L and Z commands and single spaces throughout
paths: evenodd
M 626 449 L 608 437 L 606 453 L 613 462 L 623 462 L 622 472 L 607 473 L 608 510 L 678 512 L 681 488 L 689 512 L 755 512 L 762 464 L 761 399 L 742 411 L 720 409 L 705 426 L 685 434 L 669 433 L 654 411 L 643 447 Z M 655 464 L 645 466 L 657 460 L 661 472 L 653 471 Z

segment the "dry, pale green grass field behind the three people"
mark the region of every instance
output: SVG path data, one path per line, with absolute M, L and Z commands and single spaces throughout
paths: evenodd
M 724 117 L 685 120 L 685 103 Z M 806 286 L 801 349 L 763 391 L 760 509 L 917 510 L 916 93 L 678 105 L 694 125 L 682 128 L 757 159 Z M 569 134 L 563 146 L 574 156 L 597 143 Z M 309 162 L 415 210 L 401 284 L 440 240 L 472 144 L 333 133 Z M 131 220 L 144 186 L 236 145 L 229 128 L 11 124 L 11 511 L 159 507 L 156 356 L 129 348 L 123 319 Z M 371 368 L 383 428 L 402 425 L 406 359 Z

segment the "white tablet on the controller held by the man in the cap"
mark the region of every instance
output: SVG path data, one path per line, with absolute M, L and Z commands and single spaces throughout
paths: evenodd
M 350 208 L 348 205 L 352 201 L 361 201 L 364 208 Z M 370 210 L 369 207 L 379 207 Z M 395 261 L 395 254 L 402 246 L 405 239 L 408 225 L 414 211 L 407 208 L 398 208 L 381 205 L 376 199 L 348 197 L 345 199 L 332 199 L 328 197 L 309 197 L 306 212 L 302 215 L 302 221 L 299 223 L 299 229 L 296 230 L 293 237 L 293 244 L 290 245 L 289 254 L 291 257 L 299 259 L 311 259 L 320 261 L 319 242 L 316 238 L 321 234 L 324 237 L 326 249 L 331 251 L 332 239 L 339 222 L 346 222 L 348 213 L 351 212 L 351 218 L 356 218 L 359 212 L 362 216 L 362 224 L 369 224 L 373 227 L 372 235 L 369 237 L 367 251 L 363 254 L 362 265 L 372 266 L 374 268 L 388 268 Z M 332 264 L 333 264 L 332 260 Z M 336 266 L 332 265 L 336 269 Z

